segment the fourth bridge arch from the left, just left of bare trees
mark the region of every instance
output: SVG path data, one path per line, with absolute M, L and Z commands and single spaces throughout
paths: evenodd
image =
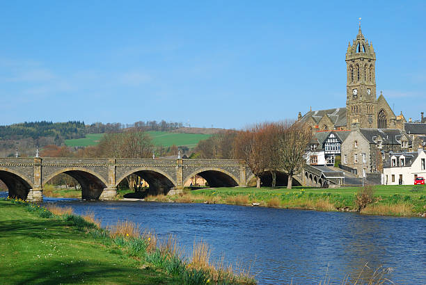
M 184 178 L 184 185 L 194 177 L 196 174 L 200 175 L 207 181 L 210 187 L 235 187 L 239 186 L 239 179 L 234 174 L 223 170 L 221 168 L 200 168 Z

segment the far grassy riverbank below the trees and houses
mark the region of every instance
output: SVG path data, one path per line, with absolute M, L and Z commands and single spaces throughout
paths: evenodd
M 209 188 L 187 191 L 182 195 L 148 197 L 150 201 L 218 203 L 268 206 L 317 211 L 358 211 L 356 195 L 361 187 L 352 188 Z M 425 186 L 374 186 L 374 199 L 361 210 L 365 214 L 416 216 L 426 212 Z

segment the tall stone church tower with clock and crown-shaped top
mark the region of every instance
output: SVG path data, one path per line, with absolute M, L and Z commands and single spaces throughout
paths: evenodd
M 378 127 L 375 65 L 376 54 L 361 32 L 360 21 L 358 35 L 346 51 L 347 129 L 354 123 L 361 128 Z

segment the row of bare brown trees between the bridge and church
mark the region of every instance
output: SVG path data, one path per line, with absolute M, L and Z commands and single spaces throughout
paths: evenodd
M 273 188 L 278 171 L 287 174 L 287 188 L 292 188 L 294 174 L 306 163 L 311 138 L 310 127 L 301 122 L 267 122 L 202 140 L 191 157 L 242 159 L 255 175 L 257 188 L 265 171 L 271 172 Z

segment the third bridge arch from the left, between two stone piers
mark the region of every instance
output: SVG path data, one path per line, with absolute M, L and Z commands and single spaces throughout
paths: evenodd
M 133 168 L 132 170 L 125 172 L 125 174 L 116 179 L 115 186 L 117 187 L 118 184 L 120 184 L 120 182 L 130 174 L 136 174 L 148 182 L 150 187 L 147 194 L 149 195 L 166 194 L 171 188 L 177 186 L 175 179 L 173 179 L 169 174 L 159 170 L 158 168 L 150 167 Z

